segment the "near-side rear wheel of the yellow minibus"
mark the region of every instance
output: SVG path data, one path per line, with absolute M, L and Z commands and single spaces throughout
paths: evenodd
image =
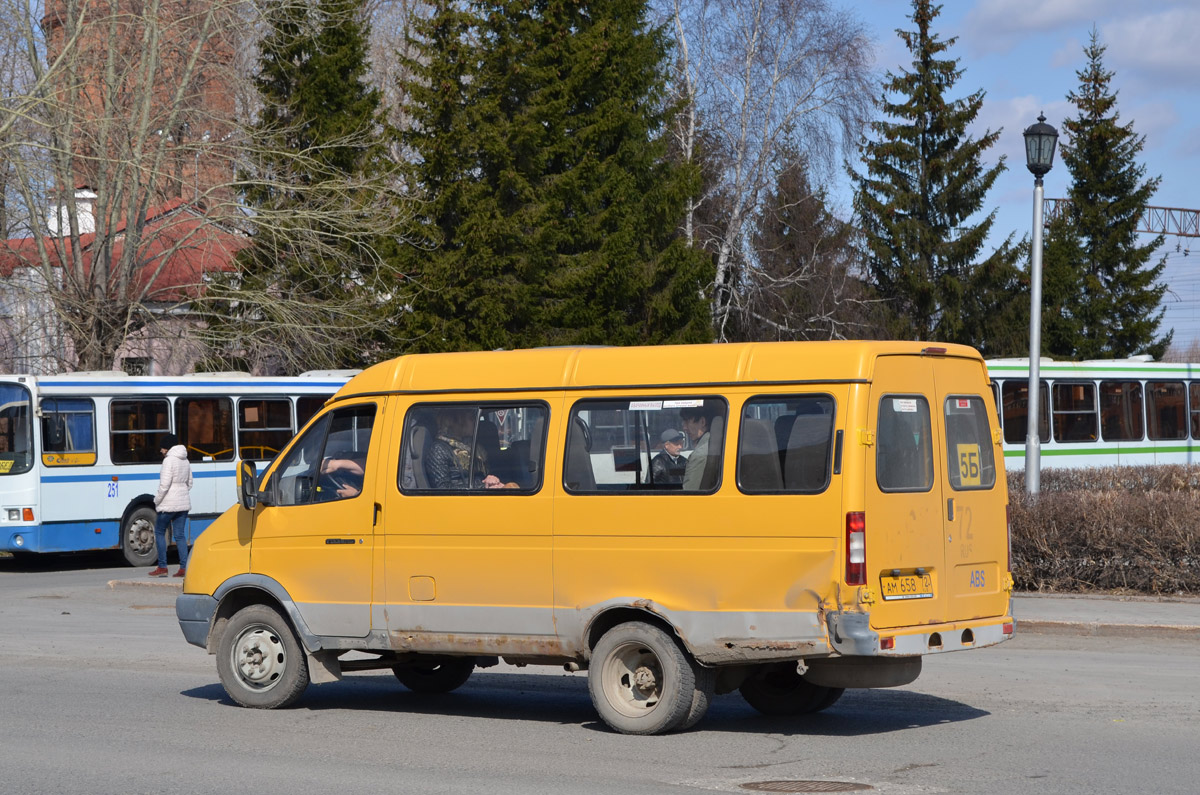
M 662 734 L 696 723 L 713 683 L 678 640 L 638 621 L 606 632 L 588 667 L 592 704 L 622 734 Z M 697 686 L 704 691 L 700 697 Z

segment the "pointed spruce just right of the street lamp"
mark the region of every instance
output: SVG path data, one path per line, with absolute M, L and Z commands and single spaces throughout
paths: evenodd
M 1150 264 L 1162 235 L 1138 244 L 1138 222 L 1159 178 L 1146 179 L 1136 162 L 1145 137 L 1121 125 L 1114 72 L 1104 68 L 1105 47 L 1092 30 L 1084 48 L 1079 88 L 1067 95 L 1075 118 L 1063 121 L 1062 162 L 1070 172 L 1069 204 L 1050 225 L 1043 274 L 1046 333 L 1043 351 L 1078 359 L 1162 358 L 1171 333 L 1158 336 L 1166 258 Z

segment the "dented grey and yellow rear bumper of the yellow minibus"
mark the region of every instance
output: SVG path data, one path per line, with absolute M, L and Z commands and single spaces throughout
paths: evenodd
M 912 657 L 983 648 L 1009 640 L 1015 629 L 1012 616 L 883 630 L 871 628 L 869 612 L 829 612 L 826 621 L 829 642 L 846 656 Z M 890 648 L 881 648 L 883 638 L 892 639 Z

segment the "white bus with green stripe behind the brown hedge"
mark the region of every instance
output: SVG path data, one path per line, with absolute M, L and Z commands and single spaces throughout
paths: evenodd
M 1004 464 L 1025 466 L 1028 359 L 988 361 Z M 1150 357 L 1038 365 L 1042 467 L 1200 462 L 1200 365 Z

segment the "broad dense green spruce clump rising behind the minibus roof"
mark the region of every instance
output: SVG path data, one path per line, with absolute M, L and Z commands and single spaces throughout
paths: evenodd
M 667 42 L 641 0 L 439 2 L 418 24 L 404 142 L 425 250 L 408 349 L 702 341 L 707 258 L 676 227 Z

